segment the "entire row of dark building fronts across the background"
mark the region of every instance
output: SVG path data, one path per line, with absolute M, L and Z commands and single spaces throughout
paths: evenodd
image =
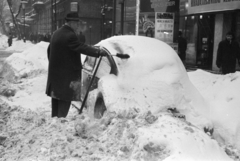
M 162 40 L 176 51 L 178 31 L 187 39 L 186 65 L 216 67 L 218 44 L 228 31 L 240 42 L 240 0 L 32 0 L 31 32 L 53 33 L 77 4 L 86 43 L 113 35 Z

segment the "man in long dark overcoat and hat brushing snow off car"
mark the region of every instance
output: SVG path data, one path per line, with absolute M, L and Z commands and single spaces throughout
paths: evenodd
M 48 80 L 46 94 L 52 97 L 52 117 L 66 117 L 71 101 L 80 101 L 81 53 L 99 57 L 107 53 L 81 43 L 76 31 L 79 27 L 77 13 L 67 14 L 66 24 L 54 32 L 48 46 Z

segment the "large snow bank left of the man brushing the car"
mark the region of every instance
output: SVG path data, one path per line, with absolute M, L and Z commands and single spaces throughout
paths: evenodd
M 16 81 L 46 72 L 48 44 L 40 42 L 22 53 L 12 54 L 4 61 L 0 76 L 9 81 Z

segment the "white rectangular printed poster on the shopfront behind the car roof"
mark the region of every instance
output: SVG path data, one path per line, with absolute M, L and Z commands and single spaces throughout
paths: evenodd
M 173 42 L 174 13 L 156 12 L 155 38 L 167 43 Z

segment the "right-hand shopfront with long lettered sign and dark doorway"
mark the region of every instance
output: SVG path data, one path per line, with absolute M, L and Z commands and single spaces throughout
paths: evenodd
M 217 71 L 218 44 L 226 33 L 240 42 L 240 0 L 181 0 L 179 22 L 188 41 L 187 64 Z

